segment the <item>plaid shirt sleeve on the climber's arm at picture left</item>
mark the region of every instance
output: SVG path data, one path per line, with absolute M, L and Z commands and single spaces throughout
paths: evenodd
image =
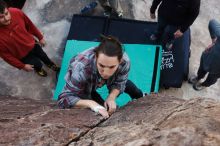
M 66 84 L 58 97 L 58 106 L 60 108 L 71 108 L 80 100 L 86 87 L 84 73 L 82 64 L 71 64 L 65 76 Z

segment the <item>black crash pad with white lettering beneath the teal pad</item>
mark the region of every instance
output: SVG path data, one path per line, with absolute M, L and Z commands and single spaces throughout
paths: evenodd
M 179 88 L 188 76 L 190 30 L 177 39 L 169 51 L 163 42 L 150 41 L 156 25 L 148 21 L 74 15 L 67 39 L 98 41 L 100 34 L 104 34 L 115 36 L 126 44 L 160 44 L 163 46 L 160 85 Z

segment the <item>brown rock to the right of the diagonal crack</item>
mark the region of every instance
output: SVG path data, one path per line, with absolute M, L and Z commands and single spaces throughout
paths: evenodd
M 130 103 L 74 145 L 218 146 L 220 104 L 146 97 Z

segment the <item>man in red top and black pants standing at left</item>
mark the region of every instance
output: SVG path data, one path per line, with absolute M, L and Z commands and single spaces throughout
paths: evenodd
M 42 49 L 46 45 L 43 34 L 21 10 L 8 8 L 3 0 L 0 34 L 0 57 L 8 64 L 27 72 L 35 70 L 42 77 L 47 76 L 42 62 L 54 71 L 59 70 Z

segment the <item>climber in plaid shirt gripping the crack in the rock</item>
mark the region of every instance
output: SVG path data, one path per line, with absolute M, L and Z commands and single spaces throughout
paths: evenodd
M 132 99 L 143 92 L 130 80 L 130 60 L 122 44 L 112 36 L 102 36 L 98 47 L 79 53 L 70 61 L 66 84 L 58 97 L 60 108 L 90 108 L 104 118 L 116 110 L 116 98 L 123 92 Z M 106 101 L 96 91 L 106 85 Z

